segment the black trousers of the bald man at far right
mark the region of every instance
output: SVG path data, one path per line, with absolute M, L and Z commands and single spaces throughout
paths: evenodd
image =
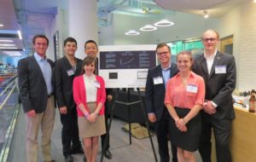
M 232 119 L 212 119 L 209 115 L 201 114 L 201 141 L 199 153 L 203 162 L 211 162 L 212 130 L 215 137 L 216 156 L 218 162 L 231 162 L 230 129 Z

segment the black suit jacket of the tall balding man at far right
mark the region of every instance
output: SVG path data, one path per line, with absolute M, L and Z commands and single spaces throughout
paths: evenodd
M 224 66 L 225 73 L 216 73 L 216 66 Z M 210 75 L 207 70 L 207 60 L 204 55 L 195 59 L 194 72 L 205 80 L 206 100 L 218 105 L 217 113 L 209 115 L 214 119 L 234 119 L 235 113 L 232 101 L 232 92 L 236 88 L 236 62 L 233 55 L 217 52 Z M 205 115 L 208 115 L 205 113 Z

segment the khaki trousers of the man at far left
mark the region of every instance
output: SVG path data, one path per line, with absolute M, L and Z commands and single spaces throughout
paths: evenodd
M 41 128 L 41 149 L 44 161 L 50 161 L 50 137 L 55 124 L 54 97 L 48 98 L 44 113 L 37 113 L 35 117 L 26 115 L 26 161 L 38 162 L 38 133 Z

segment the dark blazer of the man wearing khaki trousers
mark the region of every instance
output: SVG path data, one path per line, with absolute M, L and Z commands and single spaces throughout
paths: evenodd
M 53 70 L 53 61 L 47 61 Z M 18 84 L 24 112 L 34 109 L 36 113 L 43 113 L 47 106 L 48 92 L 43 72 L 34 55 L 18 62 Z

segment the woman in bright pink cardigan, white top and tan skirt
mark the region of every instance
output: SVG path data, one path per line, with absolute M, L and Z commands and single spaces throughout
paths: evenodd
M 82 74 L 73 80 L 73 97 L 79 116 L 79 136 L 84 142 L 87 162 L 95 162 L 99 136 L 106 133 L 104 103 L 106 90 L 104 80 L 94 74 L 96 60 L 85 57 Z

